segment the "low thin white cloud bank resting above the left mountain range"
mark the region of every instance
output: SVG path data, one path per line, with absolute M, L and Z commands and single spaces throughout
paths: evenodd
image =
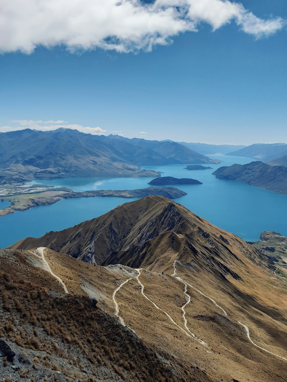
M 59 120 L 59 121 L 34 121 L 34 120 L 16 120 L 11 121 L 15 124 L 15 126 L 0 126 L 0 132 L 6 133 L 7 131 L 16 131 L 16 130 L 24 130 L 24 129 L 35 129 L 41 131 L 51 131 L 55 129 L 59 129 L 60 127 L 64 127 L 66 129 L 78 130 L 82 133 L 89 133 L 93 135 L 105 135 L 107 132 L 100 127 L 89 127 L 82 126 L 76 124 L 67 124 L 67 122 Z

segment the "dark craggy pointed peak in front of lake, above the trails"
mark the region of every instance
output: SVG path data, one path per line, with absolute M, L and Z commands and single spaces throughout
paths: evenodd
M 26 238 L 9 247 L 31 249 L 47 247 L 85 262 L 129 267 L 165 268 L 168 248 L 179 257 L 189 256 L 199 267 L 207 267 L 220 277 L 240 276 L 223 264 L 222 259 L 238 261 L 246 243 L 235 235 L 214 227 L 181 204 L 162 196 L 147 196 L 123 204 L 96 219 L 63 231 L 51 231 L 41 238 Z M 260 262 L 250 246 L 248 256 Z

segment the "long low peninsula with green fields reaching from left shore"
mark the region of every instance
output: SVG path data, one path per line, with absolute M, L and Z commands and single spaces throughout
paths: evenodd
M 21 188 L 0 189 L 1 200 L 9 201 L 9 207 L 0 209 L 0 217 L 16 211 L 24 211 L 32 207 L 47 206 L 54 204 L 61 199 L 73 199 L 78 197 L 145 197 L 145 196 L 165 196 L 168 199 L 177 199 L 186 192 L 173 187 L 147 187 L 134 190 L 95 190 L 77 192 L 68 188 L 52 188 L 51 186 L 29 186 Z

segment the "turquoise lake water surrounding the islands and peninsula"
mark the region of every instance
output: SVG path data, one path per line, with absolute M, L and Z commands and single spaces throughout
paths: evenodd
M 249 163 L 253 159 L 210 155 L 224 163 L 210 165 L 211 170 L 185 170 L 186 165 L 148 166 L 161 171 L 162 176 L 194 178 L 202 185 L 179 185 L 188 195 L 176 199 L 192 212 L 209 220 L 244 240 L 259 240 L 264 230 L 273 230 L 287 236 L 287 195 L 281 195 L 244 183 L 216 179 L 212 172 L 233 163 Z M 148 187 L 153 178 L 67 178 L 52 181 L 34 181 L 54 186 L 65 186 L 75 191 L 92 189 L 136 189 Z M 34 207 L 0 217 L 0 247 L 6 247 L 26 236 L 41 236 L 51 230 L 72 227 L 84 220 L 100 216 L 119 204 L 136 199 L 90 197 L 63 199 L 51 206 Z M 1 206 L 1 203 L 0 203 Z

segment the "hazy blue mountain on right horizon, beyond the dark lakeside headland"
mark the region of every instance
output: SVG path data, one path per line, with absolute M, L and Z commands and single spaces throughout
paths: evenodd
M 243 149 L 228 152 L 226 155 L 235 157 L 247 157 L 269 162 L 270 160 L 287 155 L 287 144 L 285 143 L 255 143 Z

